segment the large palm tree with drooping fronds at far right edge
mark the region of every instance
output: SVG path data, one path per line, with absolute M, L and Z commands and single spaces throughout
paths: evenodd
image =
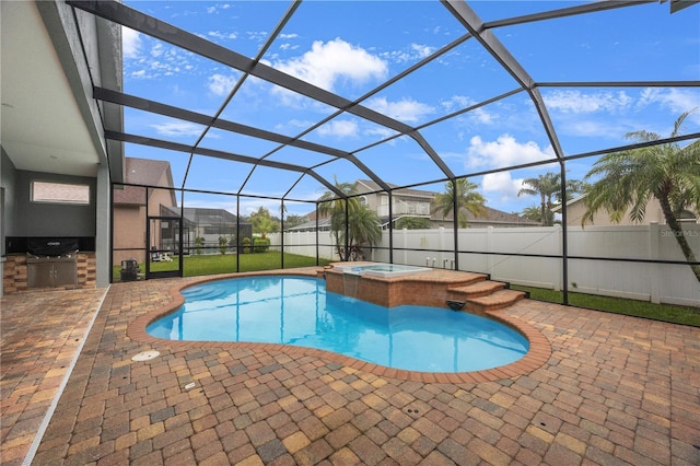
M 676 119 L 670 138 L 678 136 L 689 114 L 686 112 Z M 644 130 L 629 132 L 626 138 L 638 142 L 662 139 L 657 133 Z M 629 210 L 630 219 L 639 223 L 644 219 L 646 203 L 656 198 L 686 260 L 697 261 L 678 218 L 684 210 L 700 211 L 700 140 L 685 148 L 666 142 L 609 153 L 593 165 L 584 179 L 598 177 L 587 191 L 587 211 L 582 225 L 593 222 L 600 209 L 607 210 L 616 223 Z M 700 266 L 691 265 L 690 268 L 700 282 Z

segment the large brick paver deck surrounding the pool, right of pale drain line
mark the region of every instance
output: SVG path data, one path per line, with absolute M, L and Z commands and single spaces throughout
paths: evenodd
M 700 464 L 698 328 L 524 300 L 549 360 L 463 384 L 127 336 L 189 280 L 110 288 L 34 464 Z

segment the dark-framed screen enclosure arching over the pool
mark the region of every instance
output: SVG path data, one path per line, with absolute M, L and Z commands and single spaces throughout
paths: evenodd
M 93 90 L 124 113 L 115 269 L 233 272 L 262 236 L 281 268 L 354 251 L 700 305 L 696 2 L 69 4 L 121 28 L 122 89 Z

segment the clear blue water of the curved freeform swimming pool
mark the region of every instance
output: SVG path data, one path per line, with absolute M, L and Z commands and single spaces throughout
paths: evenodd
M 382 307 L 326 291 L 323 280 L 247 277 L 183 290 L 185 304 L 152 323 L 158 338 L 294 345 L 423 372 L 468 372 L 521 359 L 521 334 L 488 318 L 427 306 Z

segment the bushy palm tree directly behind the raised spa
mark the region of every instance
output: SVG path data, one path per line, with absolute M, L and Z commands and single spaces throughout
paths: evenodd
M 335 182 L 336 188 L 346 196 L 354 194 L 351 183 Z M 346 223 L 346 205 L 348 223 Z M 368 209 L 358 197 L 338 198 L 334 193 L 325 193 L 320 197 L 318 213 L 330 217 L 330 232 L 336 241 L 336 251 L 340 260 L 350 260 L 361 256 L 362 247 L 372 246 L 382 240 L 380 219 L 373 210 Z M 347 229 L 346 229 L 346 225 Z M 348 231 L 348 249 L 346 249 L 346 230 Z

